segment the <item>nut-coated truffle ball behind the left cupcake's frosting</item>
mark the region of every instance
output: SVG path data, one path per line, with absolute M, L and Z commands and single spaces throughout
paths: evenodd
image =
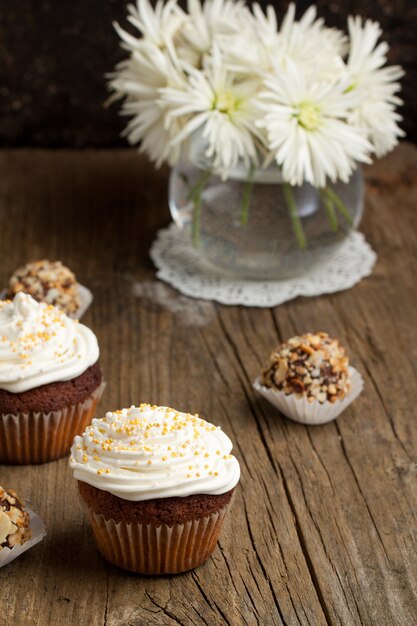
M 38 302 L 53 304 L 67 315 L 76 313 L 81 305 L 75 275 L 61 261 L 34 261 L 17 269 L 9 280 L 7 297 L 23 291 Z

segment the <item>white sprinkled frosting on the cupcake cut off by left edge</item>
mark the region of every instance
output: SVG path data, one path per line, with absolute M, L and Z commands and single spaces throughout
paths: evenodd
M 71 380 L 98 357 L 94 333 L 59 309 L 24 293 L 0 302 L 0 389 Z

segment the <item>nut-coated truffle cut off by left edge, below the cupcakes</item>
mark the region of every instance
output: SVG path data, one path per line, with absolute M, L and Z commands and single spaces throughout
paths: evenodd
M 32 537 L 30 517 L 12 489 L 0 487 L 0 550 L 26 543 Z

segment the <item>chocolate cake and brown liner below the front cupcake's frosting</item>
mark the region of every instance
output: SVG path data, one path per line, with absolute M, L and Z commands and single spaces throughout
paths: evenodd
M 179 574 L 204 563 L 216 547 L 234 492 L 131 502 L 82 482 L 78 485 L 103 557 L 118 567 L 146 575 Z M 104 497 L 94 500 L 90 489 Z M 118 503 L 116 511 L 106 511 L 107 496 L 123 504 Z M 114 505 L 111 498 L 107 501 Z M 150 513 L 158 509 L 159 515 L 152 521 Z M 205 514 L 195 516 L 197 510 Z

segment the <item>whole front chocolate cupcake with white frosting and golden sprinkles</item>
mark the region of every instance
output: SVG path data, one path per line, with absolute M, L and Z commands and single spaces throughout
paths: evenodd
M 231 449 L 219 427 L 167 407 L 94 419 L 75 438 L 70 466 L 102 555 L 142 574 L 204 563 L 240 477 Z

